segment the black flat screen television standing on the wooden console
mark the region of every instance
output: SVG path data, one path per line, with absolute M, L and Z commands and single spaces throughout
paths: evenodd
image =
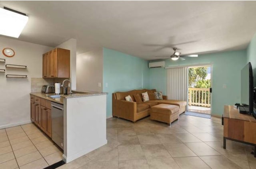
M 248 105 L 249 114 L 253 114 L 254 117 L 254 92 L 253 92 L 253 74 L 252 65 L 249 62 L 241 70 L 241 103 Z

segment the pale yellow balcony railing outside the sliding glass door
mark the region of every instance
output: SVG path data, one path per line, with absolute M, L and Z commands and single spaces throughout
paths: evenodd
M 210 107 L 210 88 L 188 88 L 188 105 Z

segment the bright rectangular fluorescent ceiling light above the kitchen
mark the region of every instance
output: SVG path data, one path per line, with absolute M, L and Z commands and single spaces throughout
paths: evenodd
M 0 34 L 18 38 L 28 22 L 28 16 L 0 8 Z

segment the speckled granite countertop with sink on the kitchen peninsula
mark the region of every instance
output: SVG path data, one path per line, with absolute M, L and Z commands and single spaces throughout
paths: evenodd
M 98 96 L 98 95 L 105 95 L 108 93 L 105 92 L 92 92 L 92 91 L 79 91 L 79 90 L 72 90 L 74 94 L 60 94 L 60 98 L 51 98 L 50 96 L 55 95 L 54 93 L 41 93 L 41 92 L 33 92 L 30 93 L 34 96 L 38 96 L 40 98 L 44 98 L 46 100 L 50 100 L 52 102 L 64 104 L 64 98 L 76 98 L 76 97 L 88 97 L 88 96 Z

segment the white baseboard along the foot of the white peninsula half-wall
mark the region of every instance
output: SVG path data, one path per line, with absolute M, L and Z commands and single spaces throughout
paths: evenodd
M 79 157 L 81 157 L 81 156 L 83 156 L 87 153 L 90 153 L 91 151 L 93 151 L 97 148 L 100 148 L 100 147 L 102 147 L 103 145 L 105 145 L 107 143 L 108 143 L 108 141 L 104 140 L 101 143 L 98 143 L 98 144 L 94 145 L 93 147 L 90 147 L 89 149 L 84 149 L 84 150 L 82 150 L 82 151 L 80 151 L 76 154 L 69 155 L 68 157 L 63 154 L 62 155 L 63 161 L 65 161 L 65 163 L 69 163 L 69 162 L 73 161 L 74 159 L 77 159 L 77 158 L 79 158 Z

